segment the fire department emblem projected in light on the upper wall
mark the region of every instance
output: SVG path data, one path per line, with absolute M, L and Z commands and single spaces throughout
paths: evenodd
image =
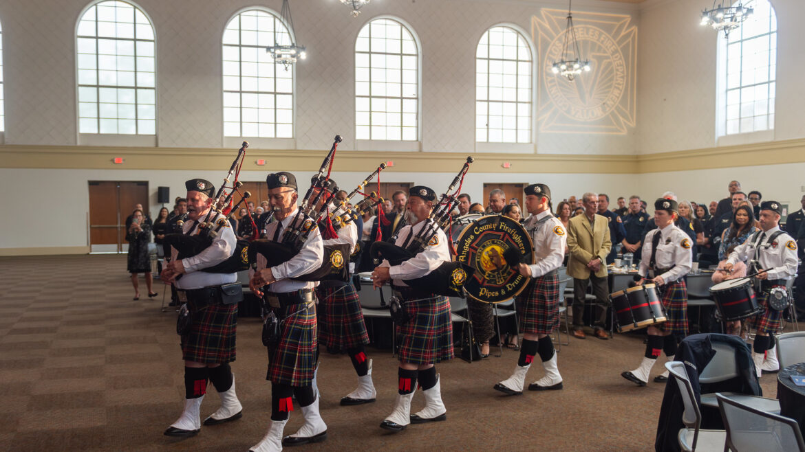
M 531 18 L 531 32 L 545 55 L 540 63 L 544 96 L 539 105 L 540 128 L 546 132 L 626 134 L 635 125 L 637 28 L 629 16 L 573 14 L 581 57 L 589 72 L 569 82 L 551 72 L 563 55 L 567 12 L 542 10 Z

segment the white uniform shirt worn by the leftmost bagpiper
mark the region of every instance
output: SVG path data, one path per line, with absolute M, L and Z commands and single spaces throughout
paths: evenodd
M 206 217 L 206 214 L 201 216 L 201 219 L 204 220 L 204 217 Z M 217 218 L 217 215 L 215 218 Z M 213 218 L 213 224 L 215 224 L 215 218 Z M 182 232 L 188 233 L 195 224 L 196 222 L 193 220 L 186 220 L 182 224 Z M 197 231 L 198 228 L 193 233 Z M 175 281 L 176 289 L 200 289 L 201 287 L 221 286 L 221 284 L 237 281 L 237 273 L 207 273 L 200 271 L 229 259 L 235 251 L 236 242 L 235 233 L 230 227 L 229 221 L 227 221 L 213 239 L 213 244 L 209 245 L 201 253 L 196 254 L 196 256 L 182 259 L 185 273 Z M 175 254 L 174 252 L 174 259 Z

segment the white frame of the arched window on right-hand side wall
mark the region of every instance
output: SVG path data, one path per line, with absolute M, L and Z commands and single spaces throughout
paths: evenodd
M 742 144 L 742 143 L 747 143 L 747 142 L 763 142 L 763 141 L 774 140 L 774 123 L 772 123 L 769 126 L 769 122 L 770 121 L 775 121 L 774 119 L 772 119 L 773 117 L 776 119 L 776 114 L 775 114 L 775 111 L 774 111 L 775 108 L 771 107 L 771 103 L 774 103 L 774 106 L 776 107 L 776 101 L 775 101 L 776 97 L 777 97 L 777 95 L 776 95 L 776 87 L 777 87 L 777 72 L 776 72 L 776 69 L 777 69 L 777 45 L 776 44 L 777 44 L 777 39 L 778 39 L 777 13 L 774 10 L 774 5 L 772 5 L 771 2 L 768 2 L 767 0 L 758 0 L 758 1 L 761 1 L 761 2 L 766 1 L 766 3 L 768 3 L 770 11 L 771 11 L 771 15 L 770 15 L 769 20 L 774 21 L 774 31 L 771 31 L 771 24 L 770 24 L 770 31 L 768 31 L 766 33 L 762 33 L 760 35 L 753 35 L 753 36 L 751 36 L 749 38 L 745 38 L 745 39 L 739 38 L 739 39 L 737 39 L 737 41 L 733 42 L 733 45 L 735 45 L 736 43 L 738 43 L 738 45 L 741 45 L 741 52 L 742 52 L 743 51 L 742 45 L 746 40 L 758 39 L 758 38 L 761 38 L 761 37 L 764 37 L 764 36 L 769 36 L 770 37 L 770 44 L 771 44 L 771 39 L 774 40 L 774 55 L 771 55 L 771 50 L 772 50 L 771 46 L 768 47 L 768 50 L 770 51 L 770 54 L 769 54 L 769 59 L 767 60 L 767 67 L 770 67 L 770 63 L 772 61 L 774 61 L 774 73 L 770 73 L 769 78 L 766 81 L 763 81 L 763 82 L 760 82 L 760 83 L 753 83 L 753 84 L 743 84 L 743 80 L 742 80 L 743 79 L 742 61 L 744 59 L 744 55 L 741 53 L 741 57 L 739 59 L 739 61 L 741 61 L 741 63 L 739 64 L 741 66 L 741 72 L 740 72 L 740 74 L 741 74 L 740 75 L 741 82 L 739 82 L 737 87 L 729 88 L 729 85 L 728 85 L 728 62 L 729 62 L 729 47 L 728 47 L 728 44 L 729 44 L 729 41 L 728 41 L 728 39 L 725 38 L 725 35 L 722 32 L 719 32 L 718 38 L 717 38 L 717 58 L 718 58 L 718 63 L 716 65 L 717 66 L 716 67 L 716 74 L 717 74 L 717 82 L 716 82 L 716 91 L 717 91 L 717 95 L 716 95 L 716 144 L 720 145 L 720 146 L 730 146 L 730 145 Z M 752 19 L 749 18 L 749 20 L 752 20 Z M 745 26 L 746 26 L 746 23 L 742 24 L 741 27 L 739 27 L 737 30 L 733 30 L 730 33 L 730 35 L 731 36 L 736 36 L 736 35 L 741 35 L 742 36 L 742 32 L 745 29 Z M 771 86 L 770 86 L 771 84 L 774 84 L 774 90 L 771 89 Z M 756 116 L 753 116 L 753 117 L 765 116 L 766 117 L 766 129 L 755 130 L 754 127 L 753 127 L 752 130 L 741 131 L 742 103 L 739 101 L 738 104 L 737 104 L 737 109 L 738 109 L 737 121 L 738 121 L 739 131 L 737 133 L 728 133 L 728 131 L 727 131 L 727 124 L 728 124 L 728 121 L 729 121 L 728 113 L 727 113 L 727 111 L 729 109 L 729 106 L 727 105 L 728 93 L 737 91 L 739 99 L 740 99 L 742 89 L 753 88 L 753 87 L 758 87 L 758 86 L 763 86 L 763 85 L 766 85 L 766 87 L 768 89 L 767 97 L 766 97 L 766 113 L 765 113 L 765 115 L 756 115 Z

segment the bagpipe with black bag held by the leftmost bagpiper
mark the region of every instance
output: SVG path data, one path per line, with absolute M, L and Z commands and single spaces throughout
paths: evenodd
M 229 227 L 229 218 L 233 213 L 237 212 L 237 209 L 251 196 L 249 191 L 240 193 L 240 187 L 243 186 L 243 183 L 237 179 L 240 175 L 244 158 L 246 158 L 247 147 L 249 147 L 249 142 L 243 142 L 243 146 L 237 151 L 237 157 L 235 157 L 232 165 L 229 166 L 229 172 L 224 178 L 224 183 L 218 188 L 213 207 L 209 208 L 204 220 L 200 220 L 198 226 L 192 230 L 192 232 L 196 233 L 187 235 L 182 232 L 173 232 L 165 235 L 163 249 L 167 261 L 193 257 L 204 251 L 204 249 L 208 249 L 213 244 L 215 237 L 221 233 L 221 228 Z M 233 178 L 234 182 L 231 186 L 228 186 L 230 178 Z M 229 192 L 224 196 L 227 190 Z M 232 206 L 235 193 L 240 194 L 241 199 Z M 221 199 L 221 196 L 224 196 L 224 199 Z M 248 210 L 248 207 L 246 209 Z M 213 213 L 215 216 L 213 216 Z M 248 215 L 248 218 L 254 225 L 252 216 Z M 184 220 L 176 222 L 178 228 L 181 228 L 182 224 L 184 224 Z M 255 227 L 254 229 L 256 230 L 257 228 Z M 207 273 L 235 273 L 249 269 L 249 263 L 246 260 L 248 246 L 248 240 L 237 240 L 234 253 L 226 261 L 201 271 Z

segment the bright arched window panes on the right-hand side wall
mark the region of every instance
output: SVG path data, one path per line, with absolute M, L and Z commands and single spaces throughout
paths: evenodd
M 750 6 L 754 14 L 718 38 L 719 136 L 774 129 L 777 15 L 768 0 Z

